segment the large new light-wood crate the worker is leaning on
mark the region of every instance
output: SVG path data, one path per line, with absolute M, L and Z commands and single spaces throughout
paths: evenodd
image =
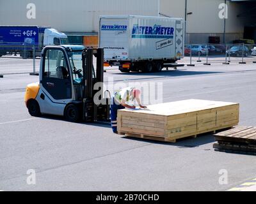
M 145 110 L 118 110 L 120 135 L 165 142 L 230 128 L 239 123 L 239 104 L 189 99 Z

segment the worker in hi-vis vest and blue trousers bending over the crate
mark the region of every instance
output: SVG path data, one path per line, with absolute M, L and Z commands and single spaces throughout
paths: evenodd
M 127 87 L 124 89 L 120 89 L 117 91 L 111 101 L 111 126 L 114 133 L 117 133 L 117 111 L 130 108 L 136 109 L 136 106 L 129 105 L 131 103 L 134 104 L 134 99 L 136 99 L 140 108 L 147 108 L 147 106 L 141 105 L 141 92 L 139 89 L 135 89 L 134 87 Z

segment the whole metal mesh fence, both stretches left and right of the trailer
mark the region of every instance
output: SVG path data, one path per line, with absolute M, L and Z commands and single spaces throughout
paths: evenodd
M 0 76 L 30 73 L 36 75 L 40 66 L 41 50 L 37 45 L 0 44 Z M 206 44 L 186 45 L 185 56 L 179 64 L 256 63 L 256 45 Z

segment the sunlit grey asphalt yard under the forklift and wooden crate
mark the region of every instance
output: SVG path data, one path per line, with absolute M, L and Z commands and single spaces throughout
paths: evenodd
M 26 60 L 10 69 L 24 68 Z M 241 105 L 240 124 L 256 126 L 256 65 L 214 64 L 161 73 L 120 73 L 105 81 L 163 84 L 163 102 L 209 99 Z M 177 143 L 115 135 L 108 124 L 31 117 L 26 85 L 38 77 L 0 78 L 0 190 L 3 191 L 227 191 L 256 178 L 256 157 L 215 152 L 214 137 Z M 35 185 L 27 183 L 35 170 Z M 226 170 L 227 184 L 220 184 Z M 253 187 L 252 187 L 253 189 Z

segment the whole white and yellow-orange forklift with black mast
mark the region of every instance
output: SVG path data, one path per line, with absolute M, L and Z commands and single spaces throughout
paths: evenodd
M 97 57 L 96 71 L 93 55 Z M 25 103 L 30 115 L 64 116 L 70 122 L 109 120 L 109 98 L 103 98 L 103 87 L 93 87 L 103 80 L 103 48 L 77 45 L 47 46 L 42 50 L 40 82 L 26 87 Z M 95 104 L 95 94 L 100 104 Z M 109 94 L 110 95 L 110 94 Z

